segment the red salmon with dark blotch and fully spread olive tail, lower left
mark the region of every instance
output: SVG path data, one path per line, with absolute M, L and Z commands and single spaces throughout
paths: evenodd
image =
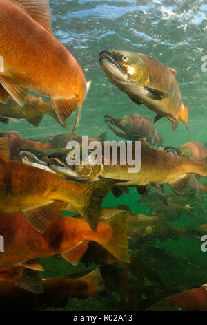
M 5 242 L 4 252 L 0 254 L 0 268 L 21 265 L 55 254 L 62 254 L 70 263 L 77 263 L 86 251 L 88 241 L 97 241 L 118 259 L 128 262 L 125 214 L 118 214 L 105 223 L 99 223 L 97 232 L 92 232 L 82 219 L 64 216 L 50 223 L 43 234 L 32 228 L 21 212 L 1 213 L 0 220 L 0 234 Z

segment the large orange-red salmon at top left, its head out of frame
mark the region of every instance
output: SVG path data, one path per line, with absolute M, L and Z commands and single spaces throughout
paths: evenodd
M 76 104 L 81 109 L 86 79 L 75 58 L 52 35 L 47 2 L 41 6 L 38 8 L 37 3 L 32 5 L 30 1 L 1 0 L 1 101 L 7 100 L 6 90 L 23 106 L 32 89 L 50 97 L 63 122 Z

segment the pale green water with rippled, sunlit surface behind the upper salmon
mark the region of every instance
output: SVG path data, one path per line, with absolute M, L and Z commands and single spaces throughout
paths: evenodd
M 99 66 L 99 51 L 131 50 L 158 59 L 177 70 L 177 81 L 184 104 L 190 104 L 190 135 L 183 124 L 173 133 L 166 118 L 157 122 L 166 145 L 180 145 L 190 140 L 206 141 L 207 72 L 201 71 L 201 57 L 206 55 L 207 26 L 205 1 L 50 1 L 55 37 L 61 41 L 83 67 L 92 86 L 83 105 L 77 132 L 97 136 L 107 129 L 103 116 L 117 117 L 140 113 L 155 113 L 146 106 L 136 106 L 121 93 Z M 48 49 L 50 50 L 50 49 Z M 70 118 L 69 127 L 75 121 Z M 3 131 L 8 126 L 2 127 Z M 10 122 L 9 129 L 28 132 L 32 136 L 64 133 L 48 116 L 39 129 L 27 122 Z M 114 138 L 108 131 L 108 138 Z

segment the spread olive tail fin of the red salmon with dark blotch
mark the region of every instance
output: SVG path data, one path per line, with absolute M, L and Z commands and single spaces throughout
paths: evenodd
M 122 211 L 104 222 L 112 228 L 112 236 L 108 243 L 99 243 L 119 261 L 130 263 L 128 257 L 128 217 Z M 98 241 L 97 241 L 98 242 Z

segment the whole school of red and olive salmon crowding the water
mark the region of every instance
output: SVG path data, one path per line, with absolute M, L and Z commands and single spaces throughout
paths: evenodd
M 166 286 L 157 263 L 163 268 L 164 260 L 170 263 L 173 257 L 148 245 L 156 238 L 178 240 L 180 236 L 195 242 L 207 234 L 205 223 L 195 228 L 170 224 L 183 213 L 195 218 L 191 203 L 201 204 L 207 193 L 201 180 L 207 178 L 206 148 L 199 142 L 164 147 L 164 138 L 150 118 L 136 113 L 136 105 L 144 104 L 157 113 L 154 122 L 167 117 L 173 131 L 180 121 L 188 129 L 189 106 L 182 102 L 175 69 L 141 53 L 99 53 L 110 82 L 135 103 L 135 113 L 104 117 L 116 136 L 133 142 L 133 158 L 135 142 L 141 142 L 141 169 L 129 172 L 132 166 L 121 163 L 121 147 L 116 165 L 112 150 L 107 155 L 103 151 L 100 165 L 91 163 L 94 151 L 88 151 L 88 163 L 83 165 L 82 148 L 79 164 L 68 164 L 68 156 L 72 160 L 76 156 L 67 143 L 81 144 L 74 131 L 90 82 L 75 57 L 53 36 L 48 1 L 0 0 L 0 55 L 0 122 L 25 119 L 39 127 L 43 115 L 49 114 L 67 128 L 67 118 L 78 108 L 72 132 L 38 140 L 23 139 L 14 131 L 0 133 L 0 235 L 4 242 L 0 310 L 45 310 L 66 306 L 71 297 L 106 295 L 113 290 L 119 294 L 120 310 L 207 310 L 207 285 L 187 291 L 181 284 L 173 290 Z M 106 133 L 97 139 L 88 137 L 88 144 L 95 140 L 103 148 Z M 128 205 L 101 207 L 110 190 L 119 198 L 128 195 L 130 187 L 136 188 L 137 203 L 149 207 L 151 216 L 132 212 Z M 63 211 L 73 214 L 63 216 Z M 81 260 L 86 267 L 97 263 L 99 268 L 76 277 L 41 279 L 39 260 L 57 257 L 58 263 L 58 255 L 74 266 Z M 173 262 L 178 265 L 176 259 Z

